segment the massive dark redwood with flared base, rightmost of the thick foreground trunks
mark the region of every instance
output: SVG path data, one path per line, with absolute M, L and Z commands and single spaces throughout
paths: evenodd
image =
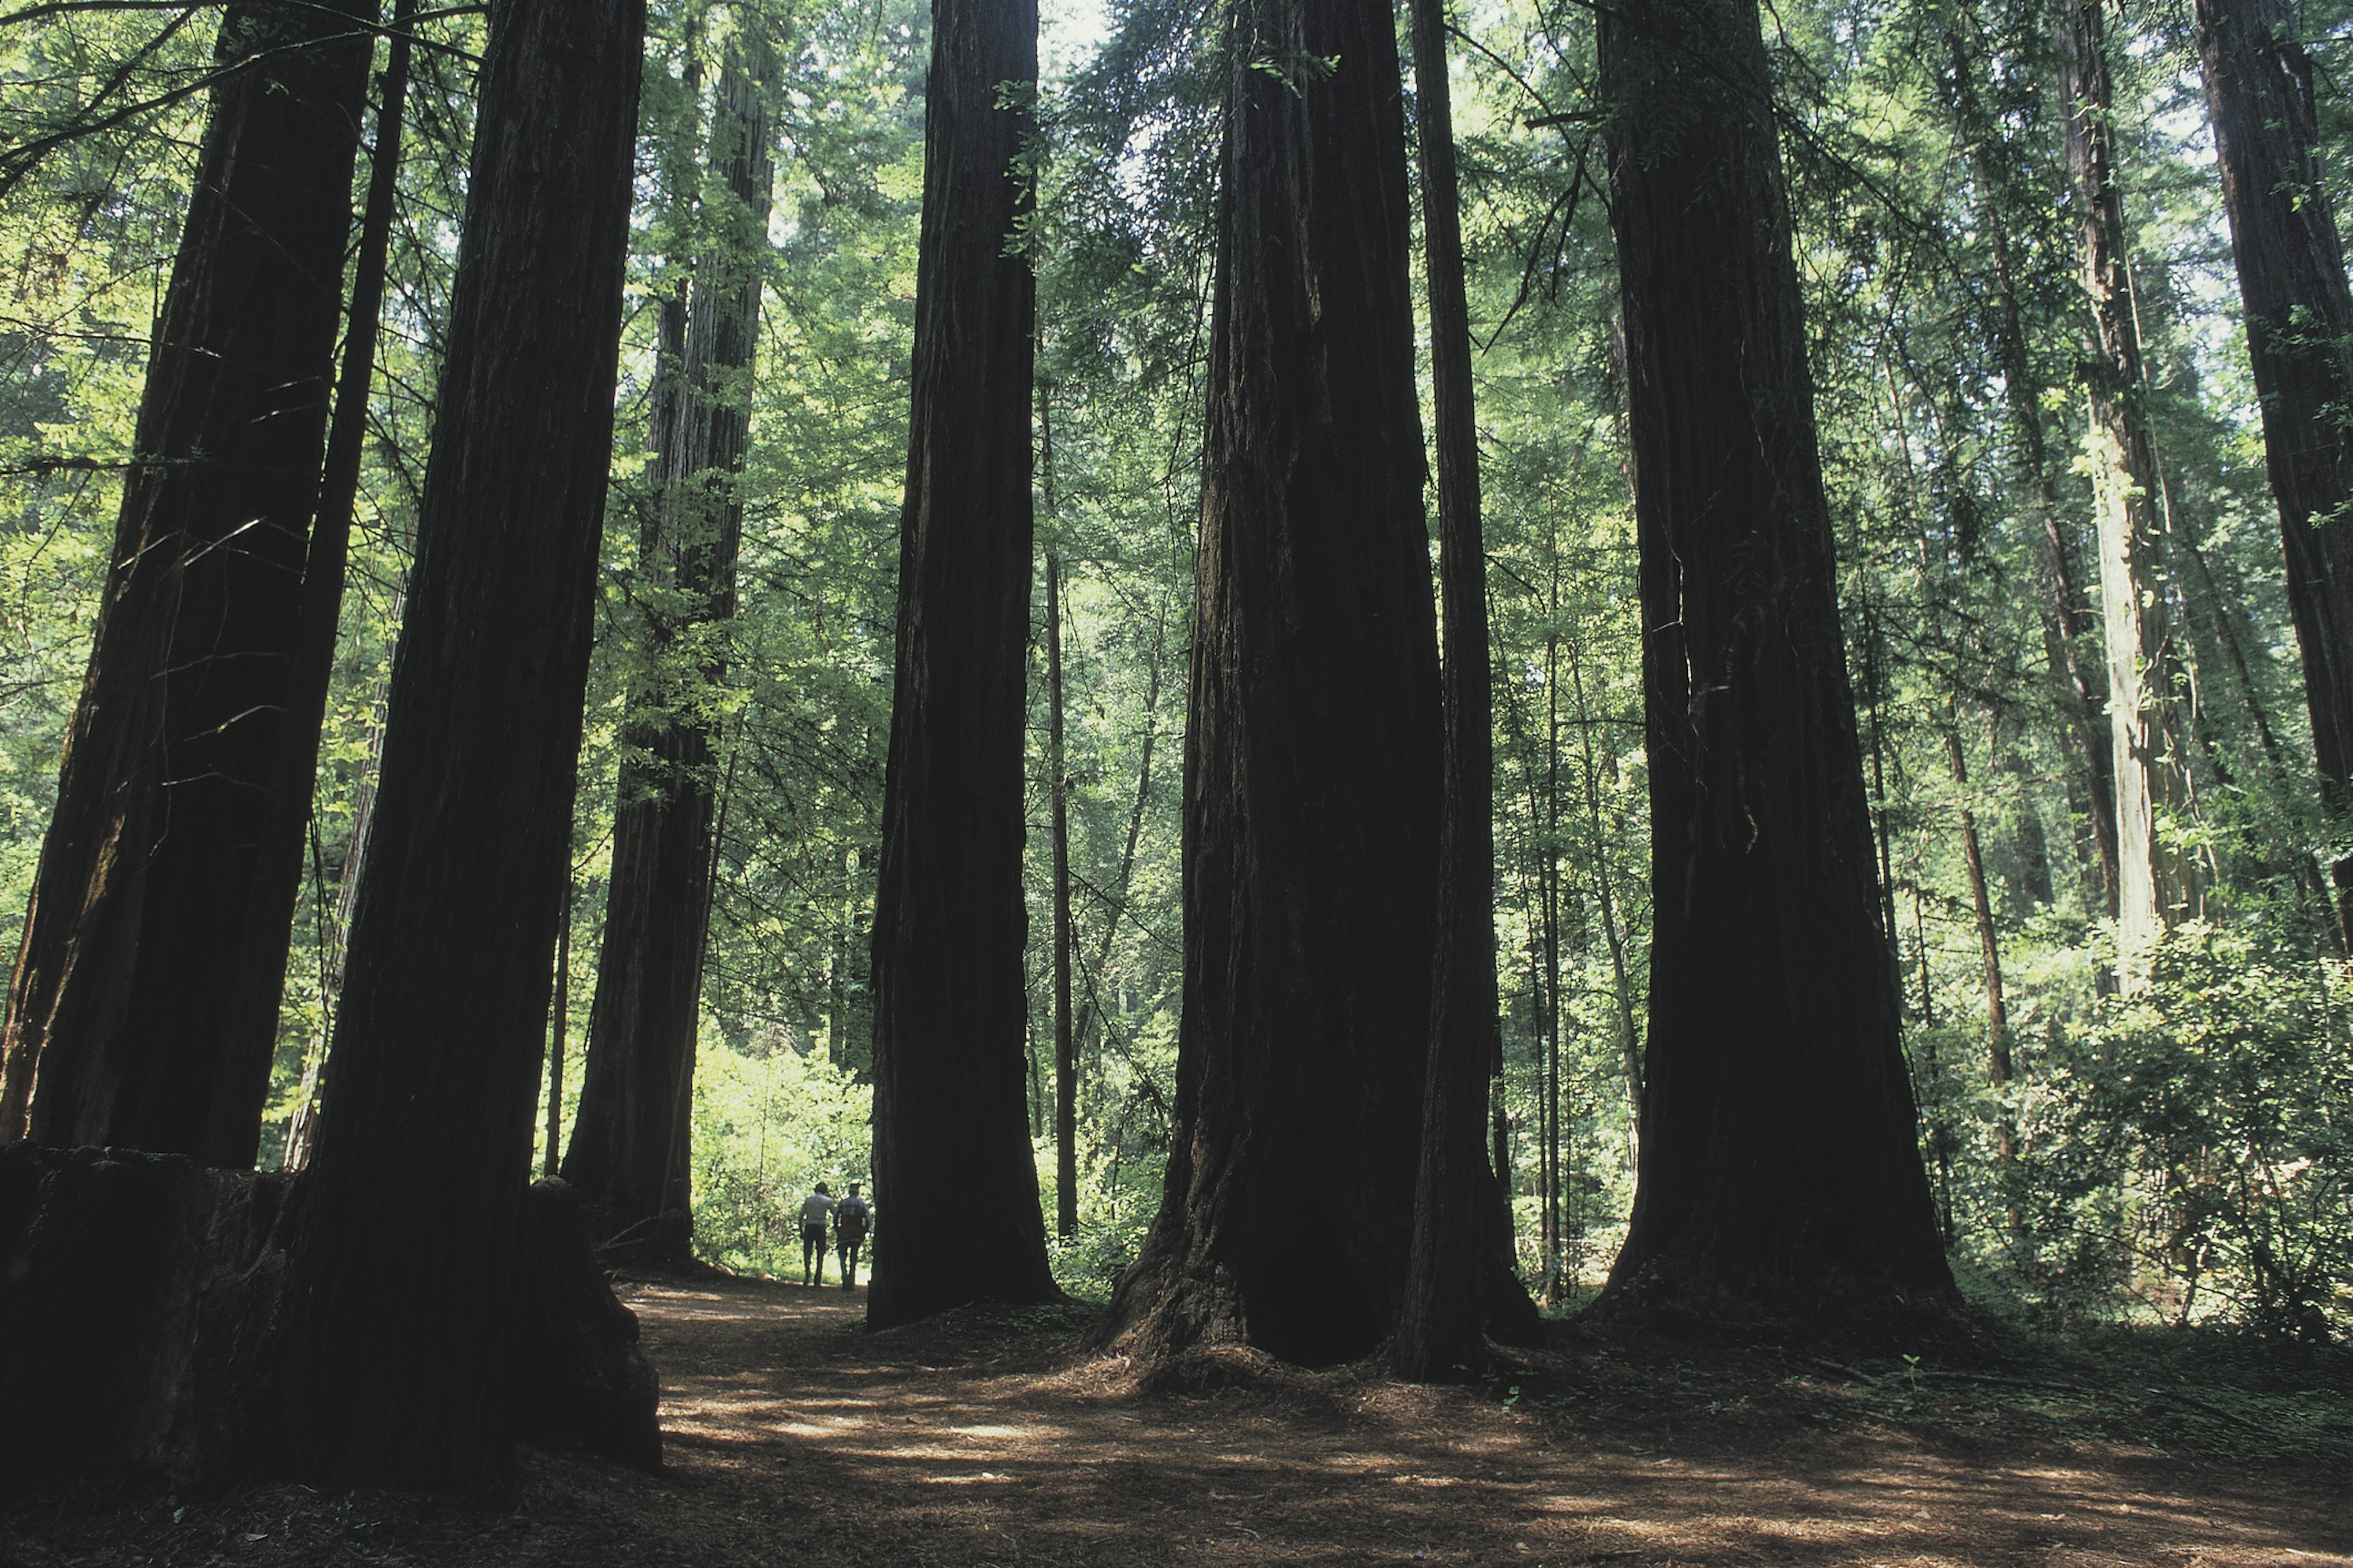
M 1600 73 L 1657 896 L 1609 1298 L 1937 1295 L 1755 5 L 1607 12 Z

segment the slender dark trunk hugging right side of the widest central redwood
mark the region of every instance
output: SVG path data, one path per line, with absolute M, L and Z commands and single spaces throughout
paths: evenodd
M 1487 1366 L 1487 1324 L 1537 1328 L 1534 1302 L 1497 1227 L 1487 1164 L 1494 990 L 1494 691 L 1487 663 L 1487 550 L 1480 543 L 1478 414 L 1461 195 L 1442 0 L 1414 0 L 1414 118 L 1428 263 L 1431 378 L 1438 418 L 1438 571 L 1445 590 L 1445 785 L 1438 846 L 1438 947 L 1421 1095 L 1414 1239 L 1398 1309 L 1400 1378 L 1468 1380 Z

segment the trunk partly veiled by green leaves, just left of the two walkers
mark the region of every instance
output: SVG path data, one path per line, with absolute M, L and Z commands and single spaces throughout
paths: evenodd
M 772 89 L 767 45 L 732 47 L 711 129 L 713 188 L 701 202 L 711 237 L 685 310 L 666 306 L 675 341 L 656 397 L 659 494 L 638 555 L 654 691 L 626 736 L 588 1063 L 562 1161 L 605 1255 L 645 1267 L 694 1262 L 689 1121 L 718 811 L 711 689 L 725 677 L 713 628 L 734 616 L 744 536 L 736 477 L 751 442 L 774 186 Z

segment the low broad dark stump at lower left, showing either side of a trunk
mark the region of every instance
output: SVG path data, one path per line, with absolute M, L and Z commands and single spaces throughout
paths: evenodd
M 136 1150 L 0 1150 L 0 1490 L 304 1469 L 271 1436 L 289 1178 Z M 520 1436 L 661 1465 L 654 1368 L 562 1182 L 522 1211 Z

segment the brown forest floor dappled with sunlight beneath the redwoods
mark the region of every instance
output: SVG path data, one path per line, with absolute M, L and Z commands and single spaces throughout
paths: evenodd
M 2344 1389 L 2297 1375 L 2191 1392 L 2155 1361 L 1937 1375 L 1565 1333 L 1464 1389 L 1247 1352 L 1139 1385 L 1075 1349 L 1075 1307 L 868 1333 L 840 1288 L 624 1293 L 659 1476 L 529 1450 L 468 1500 L 52 1495 L 0 1514 L 0 1563 L 2353 1566 Z

